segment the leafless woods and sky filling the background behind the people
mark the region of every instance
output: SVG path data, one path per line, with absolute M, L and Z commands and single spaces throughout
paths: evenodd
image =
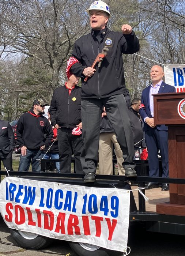
M 184 1 L 106 1 L 111 9 L 109 29 L 121 31 L 122 24 L 130 24 L 140 40 L 138 54 L 148 58 L 123 56 L 132 98 L 139 97 L 150 83 L 149 71 L 154 61 L 185 63 Z M 92 0 L 0 0 L 0 98 L 5 105 L 15 102 L 12 118 L 25 111 L 35 97 L 42 96 L 50 102 L 53 90 L 64 84 L 73 44 L 90 31 L 84 10 L 91 3 Z

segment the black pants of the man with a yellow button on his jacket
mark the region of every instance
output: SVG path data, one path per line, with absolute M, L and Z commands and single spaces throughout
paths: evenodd
M 72 135 L 72 128 L 58 129 L 58 149 L 61 173 L 71 173 L 71 155 L 75 157 L 75 172 L 82 174 L 80 154 L 83 147 L 82 135 Z

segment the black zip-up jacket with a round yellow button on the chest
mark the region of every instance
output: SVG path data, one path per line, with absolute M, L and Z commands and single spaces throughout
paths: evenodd
M 69 90 L 60 86 L 54 90 L 50 104 L 50 120 L 53 126 L 58 124 L 62 128 L 75 128 L 81 119 L 81 87 L 75 86 Z

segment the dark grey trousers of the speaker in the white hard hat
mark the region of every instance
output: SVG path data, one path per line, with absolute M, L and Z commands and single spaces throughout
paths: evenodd
M 128 107 L 124 95 L 118 94 L 101 99 L 82 99 L 81 115 L 84 145 L 81 162 L 83 172 L 96 172 L 102 106 L 105 106 L 107 117 L 112 123 L 116 139 L 120 144 L 124 159 L 124 169 L 128 167 L 135 168 L 135 163 L 133 162 L 133 133 Z

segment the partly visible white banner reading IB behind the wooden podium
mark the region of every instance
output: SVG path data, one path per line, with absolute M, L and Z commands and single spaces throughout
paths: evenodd
M 175 86 L 177 93 L 185 92 L 185 65 L 164 65 L 165 82 Z

